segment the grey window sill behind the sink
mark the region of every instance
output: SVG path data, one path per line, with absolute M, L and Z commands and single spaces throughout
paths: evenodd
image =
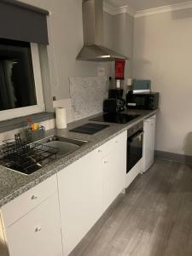
M 12 131 L 20 127 L 25 127 L 27 118 L 31 118 L 32 122 L 40 123 L 49 119 L 55 119 L 55 113 L 54 112 L 33 113 L 30 115 L 22 116 L 15 119 L 0 121 L 0 133 L 6 132 L 6 131 Z

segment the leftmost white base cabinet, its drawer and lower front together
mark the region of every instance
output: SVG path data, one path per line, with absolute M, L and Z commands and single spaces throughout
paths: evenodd
M 37 187 L 30 189 L 3 207 L 1 215 L 9 256 L 62 255 L 59 201 L 55 181 L 55 176 L 49 177 L 43 183 L 39 183 Z M 50 184 L 52 184 L 52 188 L 48 187 Z M 53 184 L 55 184 L 55 188 L 53 188 Z M 55 190 L 52 195 L 49 195 L 50 190 Z M 46 192 L 48 198 L 43 196 Z M 41 196 L 42 201 L 40 202 Z M 30 207 L 28 198 L 31 199 L 33 208 Z M 15 219 L 15 216 L 19 216 L 16 206 L 22 209 L 22 211 L 20 210 L 22 217 L 18 219 Z M 15 214 L 15 212 L 17 213 Z M 10 219 L 11 214 L 14 217 L 12 218 L 14 222 Z

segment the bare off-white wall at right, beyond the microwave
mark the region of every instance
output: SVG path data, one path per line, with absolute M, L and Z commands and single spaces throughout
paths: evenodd
M 156 149 L 192 154 L 192 9 L 135 19 L 137 79 L 160 91 Z

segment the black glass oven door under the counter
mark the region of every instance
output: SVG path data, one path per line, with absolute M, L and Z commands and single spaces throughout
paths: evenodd
M 143 157 L 143 131 L 137 131 L 134 135 L 127 138 L 127 165 L 126 173 Z

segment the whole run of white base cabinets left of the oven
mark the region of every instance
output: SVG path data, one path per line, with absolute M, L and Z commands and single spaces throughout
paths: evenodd
M 125 189 L 126 139 L 125 131 L 3 206 L 3 256 L 71 253 Z

